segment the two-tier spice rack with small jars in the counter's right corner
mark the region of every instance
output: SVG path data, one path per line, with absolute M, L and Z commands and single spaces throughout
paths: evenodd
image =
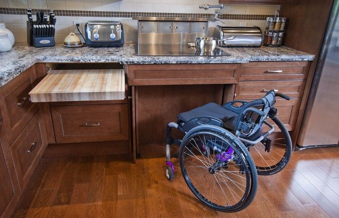
M 274 17 L 266 18 L 264 46 L 280 47 L 284 39 L 286 17 L 279 17 L 279 10 L 276 11 Z

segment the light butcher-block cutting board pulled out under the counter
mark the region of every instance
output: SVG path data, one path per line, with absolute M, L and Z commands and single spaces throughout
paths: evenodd
M 29 93 L 32 102 L 125 99 L 125 73 L 109 70 L 53 70 Z

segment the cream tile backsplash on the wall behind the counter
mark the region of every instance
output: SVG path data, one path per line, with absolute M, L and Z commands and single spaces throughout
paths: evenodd
M 201 16 L 206 13 L 214 13 L 214 9 L 199 9 L 199 5 L 203 3 L 218 4 L 218 0 L 0 0 L 0 22 L 5 23 L 6 28 L 13 32 L 16 42 L 26 42 L 26 21 L 27 15 L 22 12 L 15 12 L 15 8 L 33 8 L 33 9 L 56 9 L 58 11 L 66 10 L 74 16 L 64 16 L 56 13 L 57 22 L 55 30 L 56 43 L 62 43 L 64 38 L 70 33 L 77 33 L 73 21 L 81 21 L 81 31 L 84 32 L 85 23 L 88 20 L 119 20 L 124 25 L 125 43 L 137 42 L 137 21 L 132 20 L 129 15 L 142 14 L 149 16 L 150 12 L 161 13 L 160 16 L 173 16 L 176 13 L 181 16 Z M 252 15 L 273 15 L 280 5 L 267 4 L 225 4 L 224 16 L 221 22 L 209 22 L 209 26 L 225 25 L 225 26 L 259 26 L 263 28 L 265 25 L 264 16 L 253 17 Z M 87 13 L 82 13 L 86 11 Z M 91 12 L 93 11 L 93 12 Z M 97 11 L 114 11 L 126 12 L 124 17 L 119 17 L 119 13 L 114 17 L 104 17 L 102 15 L 96 17 L 95 14 L 102 12 Z M 128 13 L 132 12 L 132 13 Z M 88 14 L 92 16 L 85 16 Z M 148 13 L 148 14 L 147 14 Z M 168 14 L 167 14 L 168 13 Z M 201 15 L 200 15 L 201 14 Z M 234 14 L 234 16 L 233 16 Z M 126 16 L 128 15 L 128 16 Z M 157 14 L 158 15 L 158 14 Z M 258 18 L 259 17 L 259 18 Z M 239 19 L 238 19 L 239 18 Z M 35 20 L 35 17 L 34 17 Z

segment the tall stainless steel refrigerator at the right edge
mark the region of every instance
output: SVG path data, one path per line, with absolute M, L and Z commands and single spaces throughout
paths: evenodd
M 335 0 L 333 4 L 297 148 L 337 145 L 339 145 L 339 0 Z

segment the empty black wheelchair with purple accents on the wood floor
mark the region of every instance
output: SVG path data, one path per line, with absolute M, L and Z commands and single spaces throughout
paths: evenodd
M 258 100 L 209 103 L 180 113 L 166 128 L 166 177 L 174 179 L 171 158 L 179 158 L 184 180 L 194 195 L 214 210 L 233 213 L 254 199 L 258 175 L 281 171 L 291 159 L 291 137 L 274 108 L 270 90 Z M 172 128 L 185 136 L 172 137 Z M 171 156 L 171 145 L 179 152 Z

